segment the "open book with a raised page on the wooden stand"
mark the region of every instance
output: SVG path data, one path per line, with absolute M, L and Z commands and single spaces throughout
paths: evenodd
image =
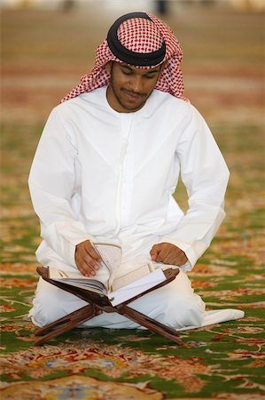
M 163 271 L 146 263 L 135 270 L 115 278 L 121 263 L 121 246 L 93 244 L 102 262 L 97 275 L 83 276 L 80 272 L 66 272 L 49 267 L 49 277 L 58 282 L 105 295 L 113 306 L 132 299 L 166 280 Z

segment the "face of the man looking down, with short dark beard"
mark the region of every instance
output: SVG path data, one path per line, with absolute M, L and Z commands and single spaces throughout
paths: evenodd
M 160 76 L 161 66 L 140 69 L 113 61 L 106 66 L 111 73 L 107 100 L 119 113 L 130 113 L 142 108 Z

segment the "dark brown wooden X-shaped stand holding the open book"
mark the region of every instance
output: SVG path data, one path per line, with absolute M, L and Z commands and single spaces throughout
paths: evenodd
M 126 300 L 123 303 L 113 307 L 108 298 L 103 294 L 97 294 L 95 292 L 90 292 L 85 289 L 81 289 L 78 287 L 70 286 L 69 284 L 64 284 L 58 281 L 54 281 L 49 278 L 48 268 L 39 267 L 37 268 L 37 272 L 43 279 L 50 284 L 54 284 L 58 286 L 60 289 L 63 289 L 66 292 L 70 292 L 75 296 L 79 297 L 82 300 L 87 301 L 89 304 L 85 307 L 79 308 L 75 310 L 73 313 L 68 314 L 67 316 L 63 316 L 59 318 L 57 321 L 54 321 L 51 324 L 47 324 L 41 329 L 38 329 L 35 332 L 35 336 L 42 336 L 40 339 L 35 341 L 35 344 L 43 344 L 45 341 L 55 338 L 61 333 L 67 332 L 68 330 L 83 324 L 85 321 L 88 321 L 93 316 L 98 316 L 99 314 L 105 313 L 118 313 L 122 316 L 127 316 L 127 318 L 136 322 L 137 324 L 143 325 L 145 328 L 149 329 L 149 331 L 159 333 L 166 338 L 173 340 L 178 345 L 183 345 L 183 341 L 178 338 L 177 333 L 173 328 L 165 324 L 160 324 L 158 321 L 150 318 L 149 316 L 144 316 L 139 311 L 136 311 L 133 308 L 129 308 L 127 306 L 133 300 L 138 299 L 139 297 L 144 296 L 147 292 L 152 292 L 155 289 L 158 289 L 164 284 L 169 284 L 169 282 L 175 279 L 175 276 L 179 273 L 179 269 L 176 268 L 168 268 L 164 272 L 166 276 L 166 280 L 161 284 L 157 284 L 152 289 L 149 289 L 136 297 Z

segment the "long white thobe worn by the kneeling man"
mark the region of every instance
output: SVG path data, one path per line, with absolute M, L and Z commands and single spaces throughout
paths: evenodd
M 185 214 L 173 197 L 179 174 L 189 196 Z M 190 103 L 154 90 L 140 110 L 118 113 L 106 100 L 106 87 L 84 93 L 53 109 L 35 153 L 29 188 L 43 237 L 37 260 L 73 270 L 76 244 L 87 239 L 113 242 L 122 247 L 119 276 L 150 261 L 153 244 L 175 244 L 188 258 L 178 278 L 178 290 L 180 281 L 186 282 L 179 298 L 186 293 L 200 315 L 194 324 L 191 318 L 173 325 L 205 324 L 204 303 L 184 271 L 195 265 L 222 223 L 228 179 L 213 135 Z M 64 311 L 44 313 L 48 292 L 50 300 L 64 298 Z M 155 291 L 151 298 L 157 295 Z M 42 325 L 81 306 L 81 300 L 41 280 L 30 315 Z M 143 312 L 141 299 L 136 306 Z M 233 317 L 239 316 L 221 319 Z M 162 320 L 167 322 L 167 316 Z

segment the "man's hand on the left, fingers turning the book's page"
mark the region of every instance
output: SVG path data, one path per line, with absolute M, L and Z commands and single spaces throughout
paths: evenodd
M 90 240 L 85 240 L 80 244 L 76 244 L 74 260 L 82 275 L 95 276 L 99 269 L 101 257 L 90 243 Z

